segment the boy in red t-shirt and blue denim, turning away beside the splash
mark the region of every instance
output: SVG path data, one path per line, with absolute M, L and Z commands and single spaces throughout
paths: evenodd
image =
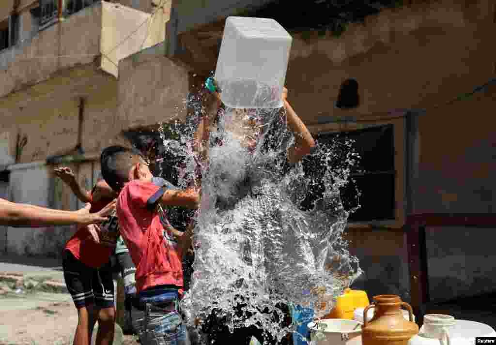
M 193 227 L 190 225 L 176 240 L 176 231 L 161 205 L 196 209 L 198 190 L 171 188 L 167 181 L 152 175 L 140 152 L 134 149 L 105 149 L 101 168 L 105 181 L 119 191 L 121 235 L 136 266 L 136 290 L 145 308 L 145 317 L 137 327 L 140 343 L 189 345 L 179 301 L 183 294 L 182 256 L 191 245 Z

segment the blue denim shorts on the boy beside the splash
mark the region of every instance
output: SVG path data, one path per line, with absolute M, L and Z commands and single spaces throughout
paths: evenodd
M 175 289 L 158 288 L 139 293 L 145 306 L 142 319 L 136 321 L 141 345 L 189 345 L 186 324 L 179 310 L 179 294 Z

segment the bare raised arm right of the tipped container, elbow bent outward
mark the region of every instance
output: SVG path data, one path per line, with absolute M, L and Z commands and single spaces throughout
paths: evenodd
M 311 152 L 312 148 L 315 146 L 315 141 L 305 123 L 296 115 L 296 112 L 289 104 L 287 96 L 288 90 L 284 88 L 282 99 L 284 108 L 286 109 L 286 121 L 295 135 L 295 145 L 288 149 L 288 160 L 290 163 L 294 164 L 300 162 L 305 155 L 308 155 Z

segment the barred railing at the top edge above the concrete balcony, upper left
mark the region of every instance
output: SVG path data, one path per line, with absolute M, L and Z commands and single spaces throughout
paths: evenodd
M 100 0 L 40 0 L 40 30 L 59 21 L 59 4 L 62 17 L 69 16 Z

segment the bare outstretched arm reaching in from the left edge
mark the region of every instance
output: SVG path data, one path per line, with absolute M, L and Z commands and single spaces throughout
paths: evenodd
M 89 213 L 87 204 L 79 211 L 61 211 L 28 204 L 15 204 L 0 199 L 0 225 L 11 227 L 38 227 L 50 225 L 88 225 L 101 223 L 116 207 L 115 201 L 100 212 Z

